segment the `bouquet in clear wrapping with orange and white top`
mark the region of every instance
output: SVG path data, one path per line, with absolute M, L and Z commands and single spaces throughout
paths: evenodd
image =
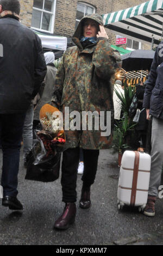
M 37 143 L 33 147 L 35 152 L 34 164 L 40 164 L 61 153 L 66 142 L 62 128 L 62 115 L 58 108 L 45 104 L 40 109 L 40 123 L 43 130 L 35 131 Z

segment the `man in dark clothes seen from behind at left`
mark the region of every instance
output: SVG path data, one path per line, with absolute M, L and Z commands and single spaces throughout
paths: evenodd
M 0 0 L 0 134 L 2 205 L 22 210 L 17 174 L 26 111 L 46 75 L 41 40 L 19 22 L 20 2 Z

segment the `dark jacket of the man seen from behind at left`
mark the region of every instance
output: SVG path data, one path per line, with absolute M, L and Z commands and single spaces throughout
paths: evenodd
M 41 40 L 14 17 L 3 17 L 0 44 L 0 113 L 25 112 L 46 75 Z

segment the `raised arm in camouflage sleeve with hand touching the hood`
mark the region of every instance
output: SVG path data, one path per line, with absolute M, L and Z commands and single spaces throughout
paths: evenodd
M 93 53 L 92 62 L 97 76 L 108 80 L 121 69 L 122 59 L 120 53 L 110 47 L 104 27 L 99 26 L 99 28 L 100 31 L 97 34 L 99 41 Z

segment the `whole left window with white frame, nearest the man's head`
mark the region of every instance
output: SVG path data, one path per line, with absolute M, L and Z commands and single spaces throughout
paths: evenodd
M 34 0 L 32 28 L 53 33 L 56 0 Z

